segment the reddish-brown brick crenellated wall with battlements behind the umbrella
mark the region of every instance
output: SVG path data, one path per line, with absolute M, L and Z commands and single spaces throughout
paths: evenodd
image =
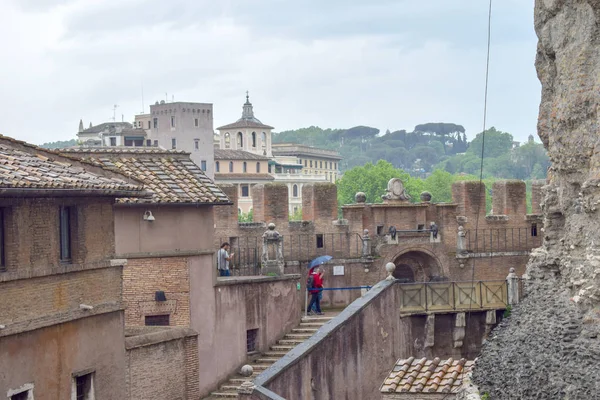
M 539 210 L 543 181 L 532 185 L 533 210 Z M 506 268 L 525 272 L 527 256 L 541 245 L 542 220 L 527 214 L 527 187 L 523 181 L 497 181 L 492 188 L 492 213 L 486 215 L 486 187 L 478 181 L 461 181 L 452 186 L 452 203 L 436 203 L 426 196 L 418 203 L 388 201 L 380 204 L 359 202 L 342 207 L 337 219 L 337 188 L 330 183 L 305 185 L 304 221 L 288 221 L 287 187 L 256 185 L 253 223 L 237 223 L 237 193 L 227 191 L 232 206 L 219 207 L 216 243 L 229 241 L 242 253 L 238 265 L 260 264 L 256 256 L 262 234 L 273 222 L 284 236 L 286 261 L 303 265 L 318 255 L 328 254 L 345 260 L 353 268 L 368 270 L 364 281 L 347 278 L 346 284 L 374 284 L 385 275 L 384 266 L 395 263 L 398 278 L 429 279 L 504 279 Z M 229 210 L 228 210 L 229 208 Z M 218 221 L 222 219 L 223 224 Z M 433 237 L 431 224 L 438 235 Z M 395 240 L 390 229 L 396 230 Z M 460 237 L 462 227 L 464 237 Z M 365 230 L 368 231 L 373 258 L 362 254 Z M 320 247 L 319 247 L 320 246 Z M 256 250 L 254 250 L 256 249 Z M 350 262 L 349 259 L 356 261 Z M 332 261 L 336 263 L 339 261 Z M 368 265 L 366 264 L 368 262 Z M 500 268 L 500 266 L 502 266 Z M 400 271 L 401 268 L 410 270 Z M 302 267 L 300 267 L 300 271 Z M 244 274 L 244 272 L 240 272 Z M 247 271 L 246 271 L 247 273 Z M 359 274 L 349 274 L 359 276 Z M 339 282 L 342 284 L 342 282 Z

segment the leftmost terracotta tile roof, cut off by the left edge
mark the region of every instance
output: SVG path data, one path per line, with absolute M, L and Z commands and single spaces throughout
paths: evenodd
M 122 196 L 122 192 L 147 195 L 140 182 L 113 173 L 105 176 L 102 171 L 94 172 L 98 167 L 89 165 L 86 169 L 81 164 L 52 150 L 0 135 L 0 190 L 62 189 L 102 191 L 115 197 Z

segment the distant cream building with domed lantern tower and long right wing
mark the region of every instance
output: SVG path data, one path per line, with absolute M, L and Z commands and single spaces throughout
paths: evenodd
M 239 211 L 252 209 L 252 186 L 280 182 L 288 187 L 290 213 L 302 207 L 305 183 L 335 182 L 339 153 L 298 144 L 272 144 L 273 127 L 254 115 L 246 94 L 242 117 L 217 128 L 215 182 L 238 187 Z

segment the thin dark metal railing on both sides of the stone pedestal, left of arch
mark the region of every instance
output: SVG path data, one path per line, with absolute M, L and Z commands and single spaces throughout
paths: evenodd
M 233 276 L 261 274 L 262 236 L 224 237 L 219 243 L 228 242 Z M 316 257 L 329 255 L 333 258 L 359 258 L 363 239 L 358 233 L 317 233 L 283 236 L 283 257 L 286 261 L 308 262 Z

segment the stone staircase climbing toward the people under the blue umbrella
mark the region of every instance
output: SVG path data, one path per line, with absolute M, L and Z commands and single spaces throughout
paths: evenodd
M 338 314 L 338 312 L 326 312 L 324 315 L 315 315 L 302 317 L 300 325 L 292 329 L 290 333 L 285 335 L 283 339 L 271 346 L 271 349 L 248 364 L 254 369 L 252 376 L 244 377 L 239 373 L 231 377 L 226 383 L 221 385 L 219 389 L 212 392 L 209 397 L 204 400 L 215 399 L 237 399 L 237 389 L 245 381 L 251 381 L 256 378 L 261 372 L 273 365 L 277 360 L 285 356 L 294 347 L 303 343 L 310 338 L 321 326 L 327 321 L 330 321 Z

